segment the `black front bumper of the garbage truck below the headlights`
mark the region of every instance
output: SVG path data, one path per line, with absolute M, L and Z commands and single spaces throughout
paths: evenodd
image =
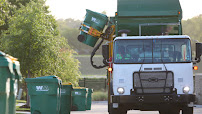
M 189 104 L 195 102 L 192 94 L 152 94 L 152 95 L 111 95 L 112 103 L 179 103 Z

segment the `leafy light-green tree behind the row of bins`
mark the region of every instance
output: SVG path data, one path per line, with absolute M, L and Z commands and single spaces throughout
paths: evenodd
M 21 5 L 1 41 L 4 51 L 19 59 L 23 76 L 57 75 L 63 82 L 77 84 L 79 62 L 73 58 L 75 52 L 66 39 L 59 35 L 45 1 Z

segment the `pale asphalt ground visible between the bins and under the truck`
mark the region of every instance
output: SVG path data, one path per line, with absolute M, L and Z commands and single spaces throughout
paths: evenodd
M 93 101 L 91 110 L 88 111 L 71 111 L 71 114 L 108 114 L 107 101 Z M 202 106 L 194 108 L 194 114 L 202 114 Z M 30 112 L 16 112 L 16 114 L 31 114 Z M 159 114 L 158 111 L 128 111 L 127 114 Z

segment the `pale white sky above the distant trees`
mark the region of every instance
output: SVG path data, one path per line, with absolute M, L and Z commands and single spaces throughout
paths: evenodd
M 183 10 L 183 20 L 202 14 L 202 0 L 180 0 Z M 95 12 L 107 12 L 114 16 L 117 11 L 117 0 L 47 0 L 51 14 L 56 19 L 84 20 L 86 9 Z

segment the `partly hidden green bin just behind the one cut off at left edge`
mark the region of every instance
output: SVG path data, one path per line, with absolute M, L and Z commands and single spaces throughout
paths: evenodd
M 22 75 L 20 72 L 20 63 L 16 60 L 13 61 L 13 71 L 14 75 L 12 75 L 12 77 L 10 78 L 9 114 L 16 113 L 16 97 L 18 92 L 18 85 L 22 79 Z

